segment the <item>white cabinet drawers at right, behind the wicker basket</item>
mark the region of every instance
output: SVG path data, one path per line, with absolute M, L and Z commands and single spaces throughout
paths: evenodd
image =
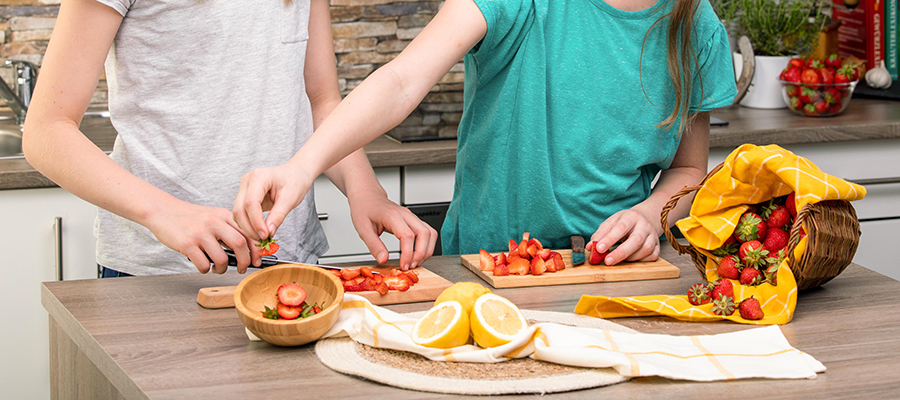
M 900 139 L 857 140 L 782 146 L 805 157 L 822 171 L 862 184 L 866 197 L 854 201 L 862 235 L 853 262 L 900 279 Z M 710 149 L 709 167 L 734 149 Z

